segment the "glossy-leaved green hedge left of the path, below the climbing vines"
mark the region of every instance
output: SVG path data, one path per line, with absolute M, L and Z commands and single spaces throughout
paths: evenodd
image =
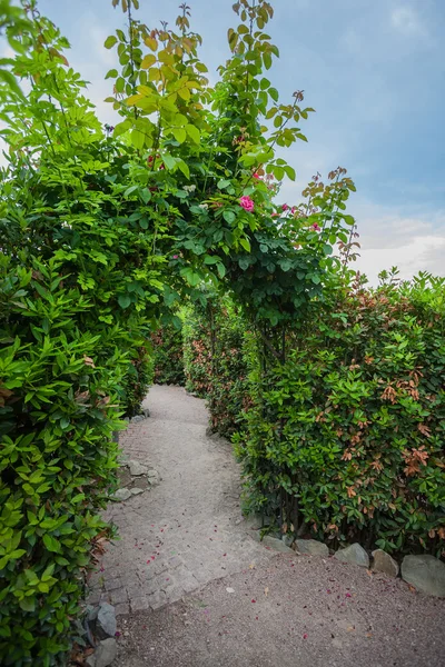
M 72 640 L 98 516 L 117 467 L 116 386 L 128 366 L 76 323 L 90 303 L 55 260 L 1 259 L 0 661 L 51 665 Z M 116 330 L 113 331 L 116 334 Z

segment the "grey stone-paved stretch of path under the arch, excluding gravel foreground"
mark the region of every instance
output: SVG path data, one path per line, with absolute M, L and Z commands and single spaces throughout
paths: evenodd
M 152 488 L 138 500 L 113 502 L 105 511 L 120 539 L 107 546 L 96 581 L 98 589 L 105 584 L 107 601 L 119 616 L 130 606 L 158 608 L 202 583 L 276 555 L 251 539 L 248 521 L 235 525 L 234 517 L 240 515 L 238 467 L 225 441 L 206 438 L 204 404 L 182 391 L 177 402 L 166 404 L 164 391 L 150 389 L 149 428 L 144 421 L 129 424 L 119 441 L 126 464 Z M 218 470 L 218 476 L 209 470 Z

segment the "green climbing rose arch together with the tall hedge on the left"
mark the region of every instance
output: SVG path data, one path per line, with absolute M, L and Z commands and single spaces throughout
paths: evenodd
M 138 411 L 151 332 L 221 281 L 273 345 L 328 283 L 353 223 L 343 170 L 304 208 L 274 203 L 295 178 L 276 150 L 305 140 L 312 110 L 300 92 L 280 103 L 264 76 L 278 56 L 268 2 L 235 4 L 214 89 L 187 6 L 169 30 L 138 21 L 137 0 L 112 4 L 127 28 L 105 43 L 120 71 L 107 74 L 118 122 L 102 128 L 36 0 L 0 0 L 14 54 L 0 63 L 0 661 L 17 667 L 62 663 L 77 634 L 111 434 Z

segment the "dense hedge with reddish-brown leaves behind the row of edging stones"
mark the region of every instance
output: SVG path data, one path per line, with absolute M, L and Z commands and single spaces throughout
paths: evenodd
M 257 374 L 237 451 L 251 507 L 288 530 L 444 552 L 444 280 L 313 308 Z

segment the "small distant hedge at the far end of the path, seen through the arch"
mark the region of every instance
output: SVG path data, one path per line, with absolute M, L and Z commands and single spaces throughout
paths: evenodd
M 166 325 L 152 335 L 151 340 L 155 354 L 155 382 L 184 387 L 186 378 L 182 329 L 178 329 L 174 325 Z

